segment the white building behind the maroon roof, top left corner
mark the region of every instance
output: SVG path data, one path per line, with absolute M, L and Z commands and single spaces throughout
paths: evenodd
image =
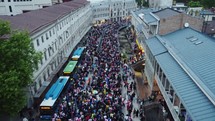
M 52 0 L 0 0 L 0 15 L 14 16 L 52 5 Z

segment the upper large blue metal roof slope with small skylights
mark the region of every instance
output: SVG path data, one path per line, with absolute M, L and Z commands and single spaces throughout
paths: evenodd
M 174 53 L 184 68 L 215 101 L 215 38 L 190 28 L 173 32 L 164 37 L 174 47 Z

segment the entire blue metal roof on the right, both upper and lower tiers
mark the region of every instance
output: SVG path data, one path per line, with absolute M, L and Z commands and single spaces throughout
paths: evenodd
M 146 44 L 192 119 L 214 120 L 215 39 L 184 28 Z

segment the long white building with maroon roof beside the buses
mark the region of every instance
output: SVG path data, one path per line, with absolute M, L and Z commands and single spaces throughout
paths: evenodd
M 74 47 L 91 28 L 92 9 L 86 0 L 73 0 L 0 18 L 10 21 L 13 29 L 27 30 L 35 50 L 43 53 L 33 75 L 34 85 L 30 87 L 34 98 L 40 99 Z

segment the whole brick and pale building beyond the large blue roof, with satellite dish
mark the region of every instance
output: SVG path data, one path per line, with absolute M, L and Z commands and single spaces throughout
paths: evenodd
M 138 43 L 142 43 L 145 39 L 153 37 L 157 34 L 165 35 L 184 26 L 201 31 L 203 26 L 203 19 L 189 16 L 183 12 L 165 8 L 157 9 L 139 9 L 131 12 L 131 23 L 137 33 Z M 144 47 L 143 47 L 144 48 Z

